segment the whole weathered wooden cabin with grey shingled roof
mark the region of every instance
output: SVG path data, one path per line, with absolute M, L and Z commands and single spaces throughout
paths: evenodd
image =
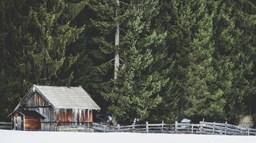
M 55 131 L 92 123 L 93 110 L 100 108 L 82 87 L 33 85 L 8 117 L 12 129 Z

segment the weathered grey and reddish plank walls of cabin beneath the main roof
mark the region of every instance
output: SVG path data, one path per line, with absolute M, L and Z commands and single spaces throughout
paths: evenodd
M 41 130 L 55 131 L 56 126 L 92 123 L 92 109 L 52 108 L 39 93 L 33 93 L 33 96 L 29 96 L 29 98 L 23 103 L 23 108 L 24 110 L 37 111 L 45 117 L 44 120 L 41 120 Z

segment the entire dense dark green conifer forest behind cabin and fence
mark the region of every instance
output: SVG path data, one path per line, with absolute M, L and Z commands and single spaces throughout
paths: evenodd
M 256 121 L 254 0 L 0 0 L 0 120 L 33 84 L 118 123 Z

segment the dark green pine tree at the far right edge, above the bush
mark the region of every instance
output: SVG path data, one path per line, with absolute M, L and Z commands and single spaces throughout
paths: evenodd
M 244 99 L 254 93 L 254 24 L 247 8 L 254 9 L 250 1 L 220 2 L 214 20 L 218 85 L 227 103 L 226 120 L 233 122 L 246 113 Z

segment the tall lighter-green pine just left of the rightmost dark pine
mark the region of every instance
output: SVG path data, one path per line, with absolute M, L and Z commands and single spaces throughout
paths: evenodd
M 212 41 L 213 16 L 215 3 L 208 1 L 191 2 L 192 12 L 191 38 L 187 58 L 189 65 L 185 68 L 187 81 L 184 85 L 188 93 L 187 108 L 183 116 L 199 121 L 222 120 L 224 115 L 223 91 L 215 87 L 217 71 L 213 66 L 214 43 Z M 194 10 L 194 11 L 193 11 Z

